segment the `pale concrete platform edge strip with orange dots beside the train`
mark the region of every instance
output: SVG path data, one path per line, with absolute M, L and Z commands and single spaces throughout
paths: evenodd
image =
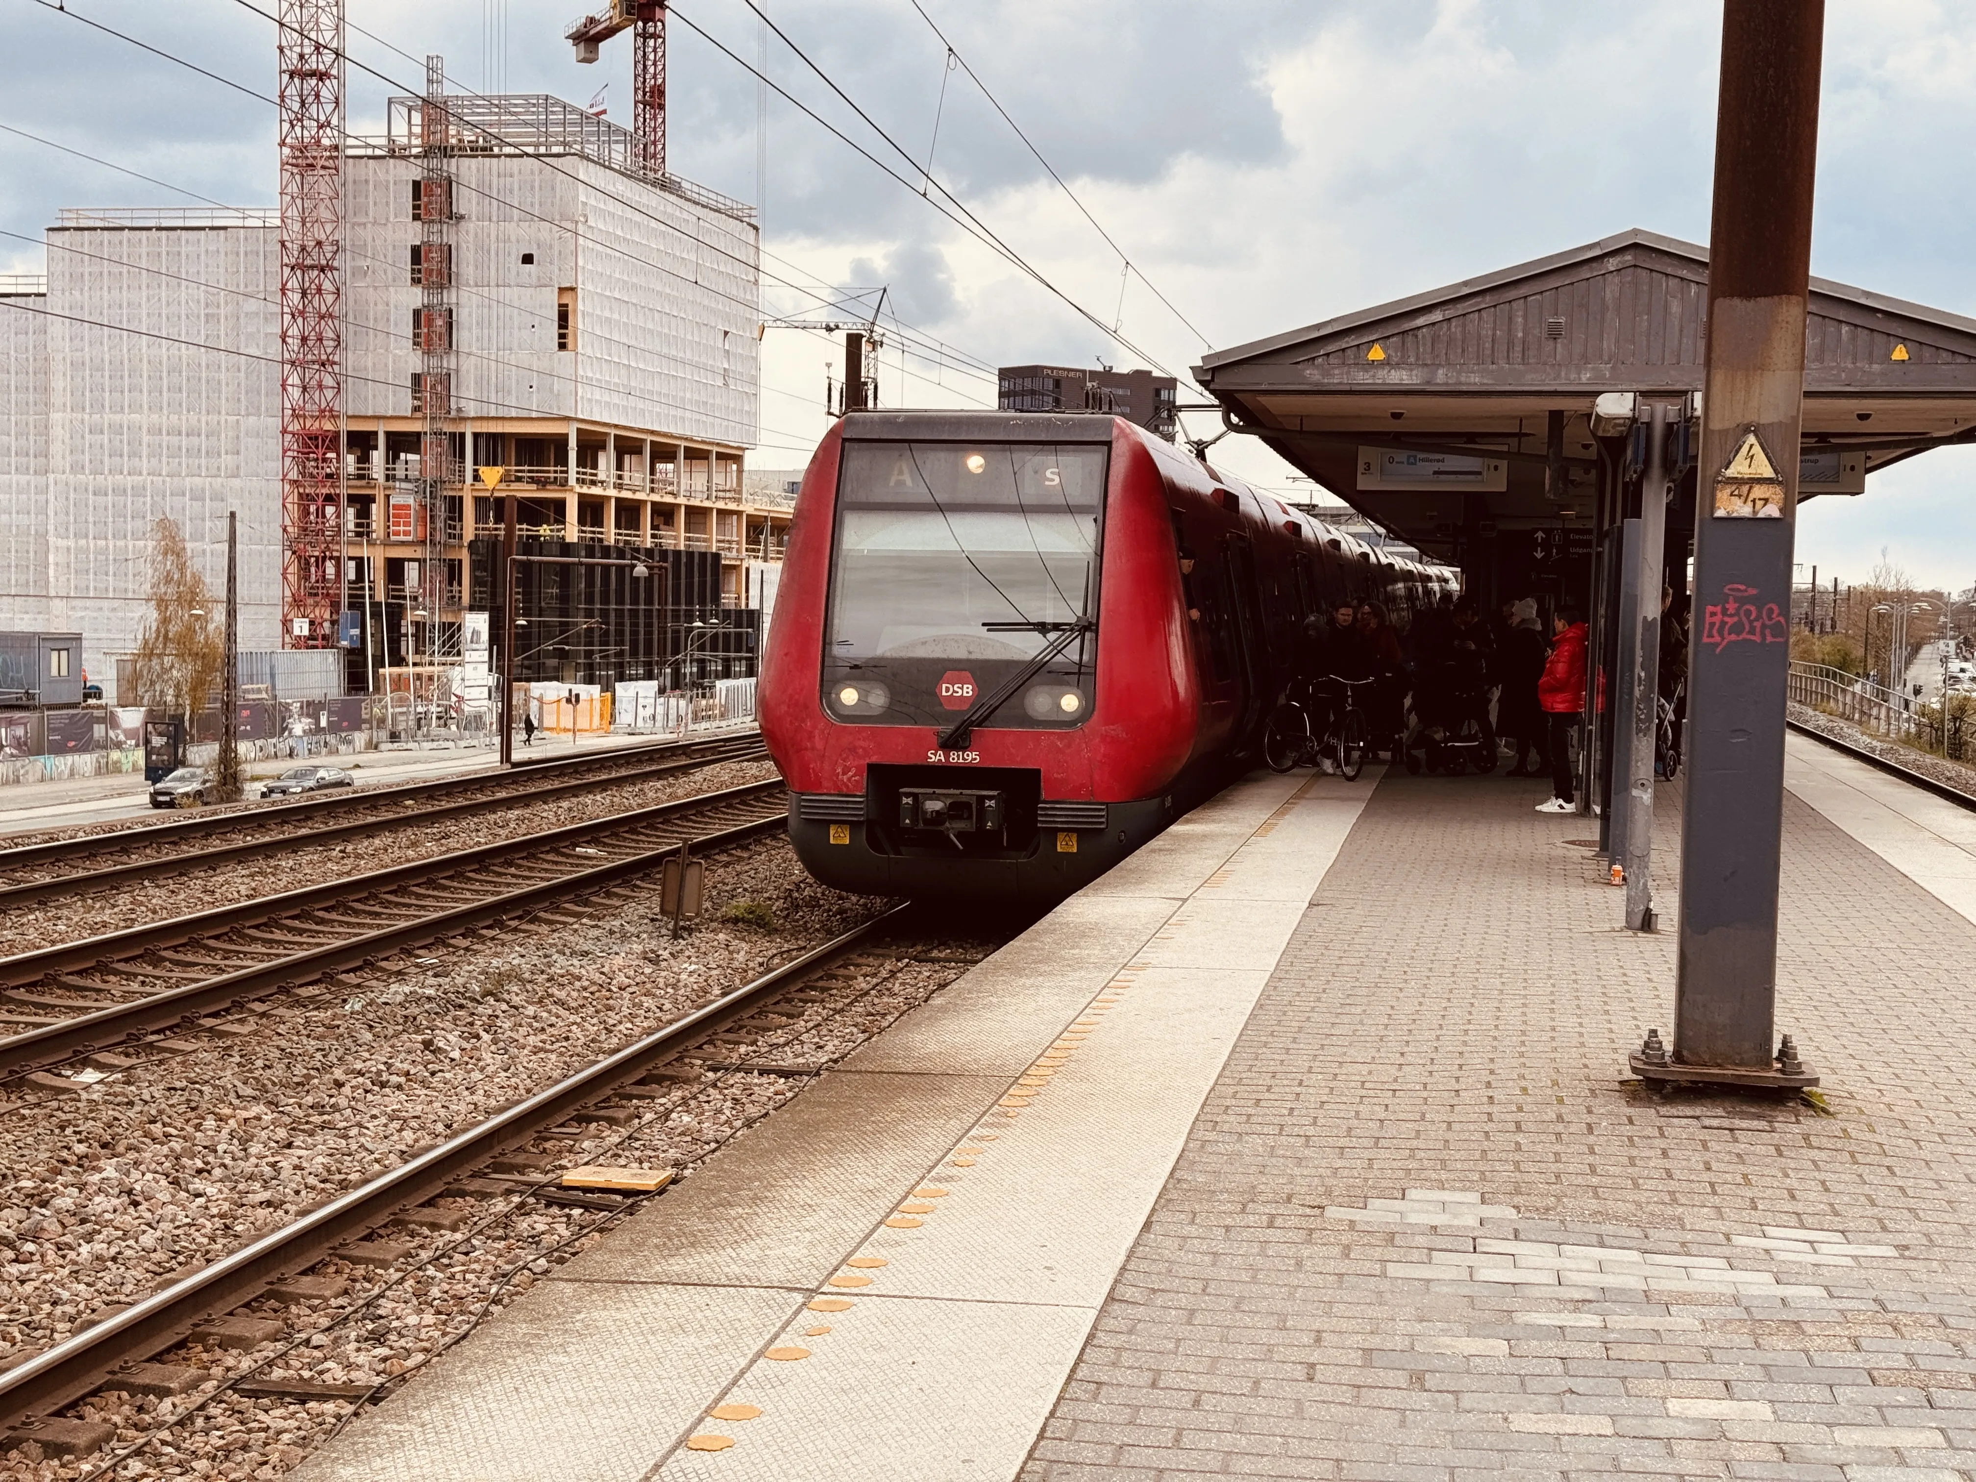
M 1012 1478 L 1371 781 L 1182 820 L 302 1476 Z

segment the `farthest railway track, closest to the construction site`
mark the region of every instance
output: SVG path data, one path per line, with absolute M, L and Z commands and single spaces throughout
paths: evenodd
M 620 782 L 644 782 L 769 753 L 759 733 L 532 763 L 512 773 L 330 792 L 265 808 L 200 812 L 166 824 L 0 850 L 0 911 L 49 897 L 330 844 L 381 828 L 431 824 Z

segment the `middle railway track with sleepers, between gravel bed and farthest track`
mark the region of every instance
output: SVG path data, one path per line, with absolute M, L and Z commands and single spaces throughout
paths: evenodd
M 682 844 L 741 844 L 784 816 L 782 784 L 753 782 L 0 958 L 0 1091 L 65 1089 L 45 1071 L 85 1057 L 126 1069 L 113 1051 L 142 1035 L 237 1031 L 225 1016 L 277 992 L 553 911 L 656 869 Z

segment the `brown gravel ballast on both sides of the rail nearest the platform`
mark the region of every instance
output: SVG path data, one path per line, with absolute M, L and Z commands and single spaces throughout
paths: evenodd
M 356 990 L 279 1010 L 251 1037 L 215 1039 L 83 1095 L 0 1114 L 0 1168 L 10 1170 L 0 1184 L 0 1365 L 883 907 L 810 881 L 784 840 L 713 856 L 707 885 L 703 925 L 678 941 L 656 913 L 654 887 L 545 935 L 510 933 L 383 964 Z M 986 945 L 943 941 L 927 950 L 960 956 L 881 958 L 850 982 L 798 994 L 800 1006 L 771 1008 L 747 1031 L 767 1059 L 824 1065 L 950 982 Z M 646 1101 L 632 1128 L 593 1126 L 534 1148 L 553 1168 L 601 1160 L 690 1172 L 802 1085 L 788 1075 L 707 1075 Z M 385 1383 L 490 1304 L 526 1292 L 595 1239 L 585 1231 L 599 1221 L 620 1217 L 526 1197 L 443 1205 L 468 1211 L 474 1227 L 389 1231 L 417 1247 L 415 1261 L 443 1253 L 431 1265 L 405 1275 L 403 1263 L 324 1263 L 314 1275 L 348 1290 L 294 1308 L 251 1304 L 257 1316 L 281 1316 L 285 1338 L 249 1352 L 162 1354 L 158 1361 L 192 1363 L 206 1379 L 172 1399 L 97 1395 L 69 1417 L 113 1425 L 121 1446 L 275 1354 L 273 1373 Z M 115 1476 L 281 1476 L 346 1413 L 346 1399 L 229 1391 Z M 14 1452 L 18 1472 L 8 1476 L 77 1478 L 109 1454 L 71 1462 Z

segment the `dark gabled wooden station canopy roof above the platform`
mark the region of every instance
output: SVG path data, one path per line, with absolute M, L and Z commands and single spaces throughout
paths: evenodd
M 1624 231 L 1219 350 L 1229 425 L 1429 555 L 1468 534 L 1591 526 L 1593 403 L 1701 391 L 1707 247 Z M 1547 494 L 1559 453 L 1563 482 Z M 1976 441 L 1976 320 L 1812 279 L 1800 498 Z

